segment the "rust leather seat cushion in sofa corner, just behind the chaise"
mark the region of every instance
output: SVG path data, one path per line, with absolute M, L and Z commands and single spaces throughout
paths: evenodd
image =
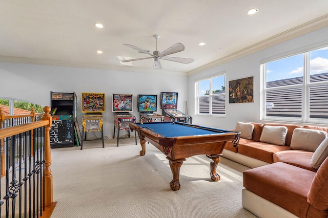
M 305 150 L 283 150 L 273 154 L 273 162 L 284 162 L 316 172 L 311 166 L 313 152 Z

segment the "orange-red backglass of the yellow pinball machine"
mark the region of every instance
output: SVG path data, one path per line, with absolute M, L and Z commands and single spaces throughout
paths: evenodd
M 105 93 L 81 93 L 82 113 L 104 113 Z

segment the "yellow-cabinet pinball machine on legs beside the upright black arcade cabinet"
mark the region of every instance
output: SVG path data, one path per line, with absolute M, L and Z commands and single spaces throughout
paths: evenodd
M 87 140 L 88 132 L 101 132 L 101 139 L 104 143 L 103 114 L 105 113 L 105 94 L 104 93 L 81 93 L 81 108 L 85 115 L 82 118 L 82 140 Z

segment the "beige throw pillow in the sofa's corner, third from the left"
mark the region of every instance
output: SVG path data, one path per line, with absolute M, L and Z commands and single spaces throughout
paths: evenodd
M 314 152 L 326 137 L 327 133 L 322 130 L 295 128 L 292 135 L 291 148 Z

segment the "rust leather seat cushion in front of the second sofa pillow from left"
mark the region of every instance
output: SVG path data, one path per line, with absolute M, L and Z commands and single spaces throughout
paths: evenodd
M 291 147 L 255 141 L 239 143 L 238 146 L 239 154 L 256 158 L 267 163 L 273 163 L 273 154 L 282 150 L 291 150 Z

